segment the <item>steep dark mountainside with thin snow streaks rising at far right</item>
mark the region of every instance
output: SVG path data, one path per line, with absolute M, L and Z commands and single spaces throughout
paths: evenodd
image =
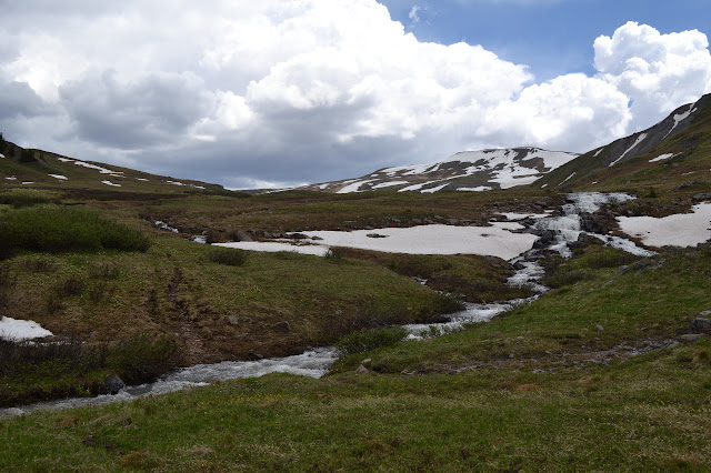
M 533 185 L 568 190 L 698 180 L 709 171 L 710 117 L 711 94 L 707 94 L 647 130 L 571 160 Z

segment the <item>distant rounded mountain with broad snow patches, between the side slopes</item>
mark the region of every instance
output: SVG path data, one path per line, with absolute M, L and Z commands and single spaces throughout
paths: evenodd
M 304 185 L 299 189 L 349 193 L 379 189 L 398 192 L 441 190 L 485 191 L 530 184 L 570 160 L 575 153 L 539 148 L 464 151 L 429 164 L 380 169 L 358 179 Z

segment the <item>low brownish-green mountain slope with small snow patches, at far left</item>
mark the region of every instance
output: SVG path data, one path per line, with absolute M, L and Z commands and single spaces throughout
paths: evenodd
M 23 149 L 0 134 L 0 188 L 140 193 L 224 193 L 221 185 Z

